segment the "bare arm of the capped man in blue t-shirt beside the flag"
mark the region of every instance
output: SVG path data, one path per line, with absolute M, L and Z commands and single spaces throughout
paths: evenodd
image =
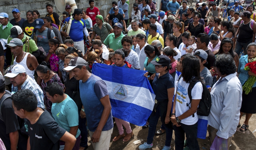
M 100 122 L 97 126 L 97 129 L 95 130 L 95 132 L 93 133 L 93 135 L 91 136 L 91 141 L 93 143 L 99 142 L 100 139 L 100 135 L 101 135 L 101 131 L 104 127 L 104 125 L 106 124 L 106 121 L 109 118 L 109 114 L 111 111 L 111 104 L 110 104 L 110 100 L 109 100 L 109 95 L 106 95 L 104 97 L 102 97 L 100 99 L 101 104 L 103 105 L 104 109 L 100 118 Z

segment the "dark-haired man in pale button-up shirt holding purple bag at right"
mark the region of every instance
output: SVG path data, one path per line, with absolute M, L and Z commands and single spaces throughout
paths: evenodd
M 208 116 L 211 143 L 214 138 L 228 140 L 228 149 L 239 122 L 242 104 L 242 85 L 237 77 L 236 64 L 231 55 L 216 58 L 216 72 L 221 78 L 211 89 L 212 107 Z

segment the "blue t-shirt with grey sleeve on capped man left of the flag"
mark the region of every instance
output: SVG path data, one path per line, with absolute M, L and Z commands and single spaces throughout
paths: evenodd
M 87 126 L 89 131 L 94 132 L 100 122 L 103 112 L 103 105 L 100 99 L 109 95 L 105 82 L 98 76 L 91 74 L 84 83 L 79 81 L 80 97 L 84 106 L 84 112 L 87 118 Z M 106 121 L 102 131 L 108 131 L 114 126 L 112 119 L 112 111 L 110 111 L 108 120 Z

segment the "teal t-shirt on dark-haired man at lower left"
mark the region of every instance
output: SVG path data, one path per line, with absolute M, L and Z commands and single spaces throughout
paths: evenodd
M 67 94 L 66 94 L 67 95 Z M 60 103 L 53 103 L 52 115 L 55 121 L 60 127 L 67 132 L 70 131 L 70 127 L 78 125 L 78 108 L 75 102 L 67 95 L 67 98 Z M 77 130 L 75 138 L 80 135 L 80 130 Z

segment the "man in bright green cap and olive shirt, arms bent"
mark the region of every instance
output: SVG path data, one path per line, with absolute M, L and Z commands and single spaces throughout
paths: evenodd
M 98 36 L 100 36 L 101 42 L 103 43 L 106 37 L 110 34 L 110 32 L 113 33 L 114 31 L 110 24 L 104 22 L 103 17 L 101 15 L 97 15 L 95 19 L 96 24 L 93 26 L 91 40 L 93 40 L 95 35 L 97 34 Z

